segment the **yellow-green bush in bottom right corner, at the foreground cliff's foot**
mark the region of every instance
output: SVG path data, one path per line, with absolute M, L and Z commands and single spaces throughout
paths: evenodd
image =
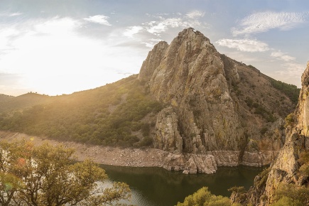
M 281 183 L 275 193 L 273 205 L 309 205 L 309 188 Z

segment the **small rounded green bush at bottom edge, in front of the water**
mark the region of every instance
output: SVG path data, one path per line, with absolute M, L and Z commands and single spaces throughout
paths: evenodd
M 197 190 L 193 195 L 189 195 L 185 197 L 185 201 L 183 203 L 178 202 L 177 206 L 210 206 L 210 205 L 232 205 L 231 200 L 227 197 L 222 197 L 221 195 L 216 196 L 212 195 L 208 188 L 203 187 L 200 190 Z

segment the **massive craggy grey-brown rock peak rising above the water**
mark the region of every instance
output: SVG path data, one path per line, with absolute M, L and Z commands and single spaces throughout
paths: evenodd
M 271 163 L 285 141 L 283 118 L 295 104 L 270 79 L 221 55 L 193 28 L 170 45 L 158 43 L 139 74 L 146 90 L 167 105 L 158 114 L 153 145 L 191 156 L 190 173 L 213 171 L 200 168 L 202 156 L 212 156 L 214 168 Z

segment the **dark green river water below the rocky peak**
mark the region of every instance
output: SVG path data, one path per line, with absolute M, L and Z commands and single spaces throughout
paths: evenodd
M 138 206 L 171 206 L 202 187 L 214 195 L 229 197 L 227 189 L 244 186 L 249 189 L 254 177 L 264 168 L 246 166 L 219 167 L 217 173 L 184 175 L 163 168 L 129 168 L 102 166 L 112 181 L 127 183 L 131 188 L 131 204 Z

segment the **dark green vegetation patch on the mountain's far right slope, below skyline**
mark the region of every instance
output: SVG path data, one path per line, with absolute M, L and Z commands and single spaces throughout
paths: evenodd
M 297 104 L 300 89 L 298 89 L 296 85 L 286 84 L 281 81 L 273 80 L 272 78 L 269 78 L 269 80 L 273 87 L 283 92 L 283 94 L 286 94 L 286 96 L 291 99 L 294 104 Z

